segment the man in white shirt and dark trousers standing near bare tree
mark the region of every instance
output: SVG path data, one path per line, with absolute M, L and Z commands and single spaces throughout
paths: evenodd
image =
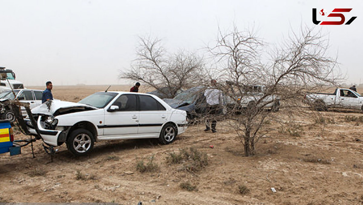
M 221 90 L 218 90 L 216 88 L 216 80 L 211 80 L 212 87 L 208 88 L 204 91 L 204 96 L 207 101 L 207 119 L 205 121 L 205 130 L 209 131 L 211 127 L 209 127 L 209 122 L 212 121 L 212 133 L 216 133 L 216 125 L 217 120 L 216 116 L 222 113 L 222 107 L 223 107 L 223 93 Z

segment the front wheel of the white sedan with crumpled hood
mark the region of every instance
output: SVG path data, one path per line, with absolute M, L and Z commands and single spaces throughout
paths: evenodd
M 76 129 L 67 137 L 67 149 L 76 156 L 84 156 L 90 153 L 94 145 L 92 133 L 86 129 Z

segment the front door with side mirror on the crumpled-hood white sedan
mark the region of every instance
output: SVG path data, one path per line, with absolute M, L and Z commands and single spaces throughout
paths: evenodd
M 105 111 L 105 123 L 103 135 L 114 137 L 134 136 L 138 133 L 139 111 L 137 108 L 136 95 L 120 95 L 112 105 L 119 107 L 116 111 Z

